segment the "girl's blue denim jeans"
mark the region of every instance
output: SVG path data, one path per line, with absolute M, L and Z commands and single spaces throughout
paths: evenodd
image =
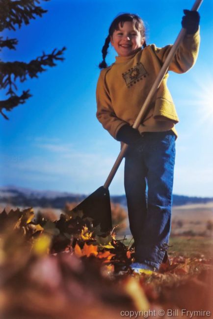
M 172 131 L 145 132 L 125 154 L 124 186 L 135 262 L 157 269 L 171 231 L 175 138 Z

